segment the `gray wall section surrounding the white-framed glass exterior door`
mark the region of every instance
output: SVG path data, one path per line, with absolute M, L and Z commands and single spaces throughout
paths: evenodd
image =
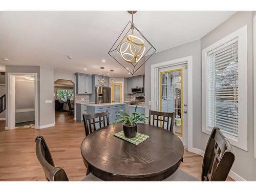
M 193 147 L 201 148 L 201 125 L 202 125 L 202 79 L 201 79 L 201 47 L 200 40 L 155 53 L 145 63 L 145 102 L 146 114 L 151 106 L 151 65 L 159 62 L 173 60 L 186 56 L 193 56 Z M 189 68 L 189 66 L 188 66 Z

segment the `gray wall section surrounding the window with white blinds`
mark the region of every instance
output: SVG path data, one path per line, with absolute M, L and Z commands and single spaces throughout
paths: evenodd
M 234 173 L 237 173 L 245 180 L 252 181 L 256 180 L 256 159 L 253 157 L 253 63 L 252 63 L 252 26 L 253 22 L 253 14 L 251 11 L 240 11 L 229 19 L 227 19 L 224 23 L 218 26 L 216 29 L 212 30 L 210 33 L 205 35 L 201 39 L 201 47 L 202 49 L 207 46 L 213 44 L 214 42 L 220 40 L 221 38 L 227 36 L 233 31 L 238 30 L 239 28 L 247 25 L 247 51 L 248 51 L 248 69 L 247 69 L 247 128 L 248 128 L 248 152 L 241 150 L 233 146 L 234 151 L 236 152 L 236 160 L 232 166 Z M 202 133 L 202 143 L 201 149 L 204 150 L 206 142 L 208 140 L 208 135 Z

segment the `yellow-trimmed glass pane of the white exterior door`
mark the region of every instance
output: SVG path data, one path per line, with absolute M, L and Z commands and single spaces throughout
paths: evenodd
M 175 113 L 175 134 L 182 136 L 182 79 L 181 69 L 161 72 L 160 111 Z

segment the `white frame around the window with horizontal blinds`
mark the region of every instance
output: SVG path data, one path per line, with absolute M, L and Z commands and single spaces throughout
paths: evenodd
M 247 151 L 247 25 L 230 33 L 224 38 L 202 50 L 202 132 L 210 135 L 211 129 L 207 127 L 207 82 L 206 59 L 207 53 L 226 44 L 228 41 L 238 38 L 238 138 L 228 133 L 223 134 L 229 142 Z M 242 86 L 241 86 L 242 85 Z

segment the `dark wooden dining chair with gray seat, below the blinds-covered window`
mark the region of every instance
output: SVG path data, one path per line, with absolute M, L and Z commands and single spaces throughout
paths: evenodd
M 215 127 L 205 148 L 201 181 L 226 181 L 234 162 L 232 146 L 218 127 Z M 181 169 L 164 181 L 199 181 Z

